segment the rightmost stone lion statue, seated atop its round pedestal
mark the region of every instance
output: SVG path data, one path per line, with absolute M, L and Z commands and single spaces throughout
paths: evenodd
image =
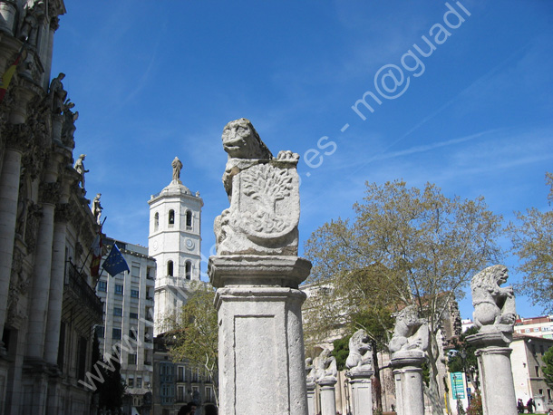
M 474 324 L 481 331 L 512 332 L 517 319 L 512 286 L 501 287 L 509 277 L 505 265 L 492 265 L 471 280 Z

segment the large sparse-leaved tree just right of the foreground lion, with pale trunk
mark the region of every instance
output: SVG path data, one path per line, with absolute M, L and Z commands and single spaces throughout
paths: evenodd
M 501 217 L 482 197 L 447 198 L 430 183 L 420 190 L 403 181 L 367 183 L 364 202 L 354 205 L 354 213 L 352 223 L 332 220 L 306 242 L 314 265 L 310 282 L 335 284 L 336 293 L 347 299 L 346 321 L 367 309 L 385 315 L 416 304 L 431 332 L 427 394 L 432 412 L 442 413 L 436 335 L 471 275 L 498 262 Z

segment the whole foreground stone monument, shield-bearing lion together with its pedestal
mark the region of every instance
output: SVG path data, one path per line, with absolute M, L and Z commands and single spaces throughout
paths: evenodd
M 227 124 L 223 174 L 230 207 L 215 219 L 220 415 L 306 415 L 306 364 L 297 256 L 299 155 L 276 158 L 250 121 Z M 333 414 L 335 415 L 335 414 Z

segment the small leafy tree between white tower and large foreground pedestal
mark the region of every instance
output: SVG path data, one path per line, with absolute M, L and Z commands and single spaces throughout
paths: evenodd
M 191 294 L 180 314 L 165 320 L 171 358 L 174 362 L 187 360 L 192 366 L 205 370 L 213 381 L 218 404 L 218 323 L 213 304 L 215 290 L 201 282 L 190 283 Z

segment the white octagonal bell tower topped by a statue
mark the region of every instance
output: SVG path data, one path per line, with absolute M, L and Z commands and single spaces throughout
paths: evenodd
M 179 313 L 189 297 L 190 281 L 199 281 L 201 262 L 201 207 L 199 192 L 193 195 L 180 181 L 182 163 L 172 162 L 169 186 L 152 195 L 148 254 L 156 260 L 154 335 L 169 314 Z

